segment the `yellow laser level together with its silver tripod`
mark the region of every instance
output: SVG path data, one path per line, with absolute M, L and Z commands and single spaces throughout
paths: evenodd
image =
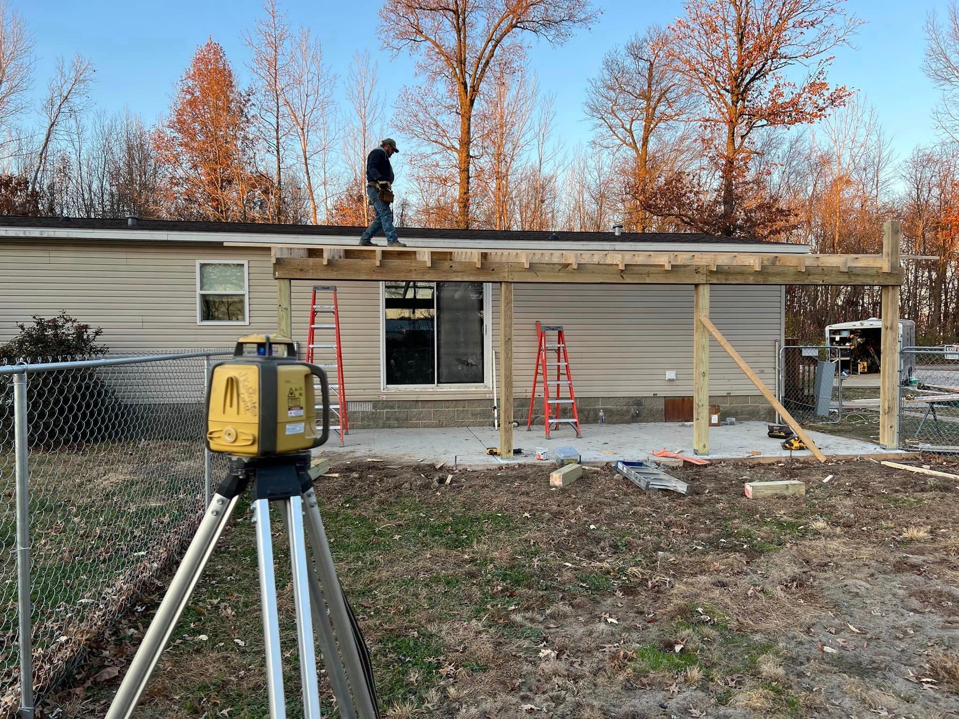
M 241 337 L 235 356 L 234 361 L 222 362 L 213 368 L 207 391 L 207 447 L 214 452 L 229 453 L 226 476 L 199 522 L 197 534 L 130 662 L 106 719 L 132 716 L 237 500 L 247 489 L 252 493 L 256 522 L 270 719 L 287 716 L 269 526 L 270 502 L 277 503 L 290 537 L 303 716 L 320 719 L 314 644 L 316 615 L 319 646 L 339 716 L 378 719 L 369 655 L 339 586 L 309 470 L 309 449 L 323 444 L 329 434 L 326 376 L 316 365 L 297 361 L 295 346 L 286 337 Z M 314 377 L 322 389 L 319 435 L 315 433 Z M 313 560 L 307 553 L 306 536 L 313 548 Z

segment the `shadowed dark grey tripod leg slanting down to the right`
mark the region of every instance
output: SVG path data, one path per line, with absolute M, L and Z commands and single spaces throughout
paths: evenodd
M 339 587 L 337 569 L 333 565 L 333 555 L 330 553 L 330 545 L 326 540 L 326 530 L 323 528 L 323 518 L 319 514 L 316 493 L 312 487 L 303 493 L 303 501 L 306 506 L 306 529 L 310 535 L 310 545 L 313 546 L 316 571 L 319 574 L 319 581 L 326 590 L 326 601 L 333 618 L 336 636 L 339 639 L 339 650 L 342 654 L 343 663 L 346 665 L 347 677 L 353 686 L 357 713 L 360 719 L 376 719 L 378 713 L 373 707 L 373 699 L 370 696 L 369 688 L 366 686 L 363 662 L 360 660 L 360 652 L 357 649 L 356 639 L 353 637 L 346 602 L 343 600 L 343 592 Z

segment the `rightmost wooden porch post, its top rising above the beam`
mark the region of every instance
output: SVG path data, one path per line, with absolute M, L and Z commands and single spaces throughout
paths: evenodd
M 882 225 L 882 257 L 889 271 L 900 268 L 900 232 L 900 223 L 897 221 Z M 882 347 L 879 364 L 879 444 L 892 450 L 899 447 L 900 288 L 898 285 L 884 285 L 880 294 Z

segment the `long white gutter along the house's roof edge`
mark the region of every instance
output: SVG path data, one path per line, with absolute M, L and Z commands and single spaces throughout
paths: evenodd
M 403 228 L 397 228 L 401 239 L 410 247 L 462 247 L 464 249 L 516 249 L 523 246 L 509 240 L 454 240 L 402 237 Z M 102 240 L 111 243 L 204 243 L 204 244 L 262 244 L 264 248 L 275 246 L 337 246 L 359 244 L 360 238 L 349 235 L 299 235 L 263 232 L 164 232 L 135 228 L 83 229 L 71 227 L 3 227 L 0 238 L 16 240 Z M 376 240 L 385 244 L 382 238 Z M 760 254 L 808 254 L 807 244 L 765 243 L 617 243 L 617 242 L 556 242 L 537 240 L 525 247 L 528 250 L 567 250 L 580 252 L 756 252 Z

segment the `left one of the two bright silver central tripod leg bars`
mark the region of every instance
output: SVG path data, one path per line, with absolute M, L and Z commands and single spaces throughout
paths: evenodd
M 256 556 L 260 566 L 260 603 L 263 611 L 263 640 L 267 655 L 267 697 L 270 719 L 286 719 L 283 696 L 283 655 L 280 651 L 280 622 L 276 607 L 276 576 L 273 544 L 269 533 L 269 499 L 253 502 L 256 518 Z

